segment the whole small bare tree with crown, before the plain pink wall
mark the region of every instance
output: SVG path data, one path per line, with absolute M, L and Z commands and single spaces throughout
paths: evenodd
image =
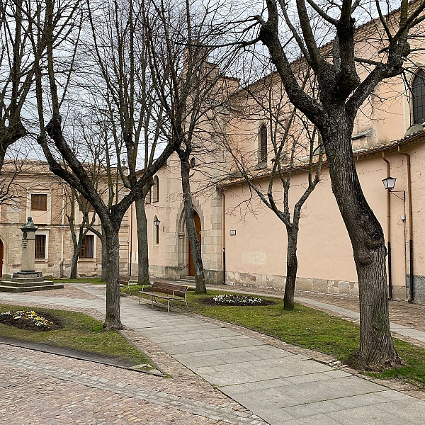
M 308 69 L 303 71 L 305 75 L 299 77 L 305 86 L 310 80 L 310 73 Z M 323 146 L 318 142 L 317 128 L 290 105 L 283 86 L 276 79 L 278 76 L 271 73 L 267 78 L 246 86 L 232 99 L 235 115 L 232 119 L 233 132 L 240 133 L 241 130 L 238 127 L 244 127 L 246 121 L 262 123 L 258 135 L 259 146 L 255 147 L 254 151 L 247 151 L 246 146 L 241 149 L 237 144 L 232 143 L 232 140 L 226 137 L 225 131 L 218 133 L 224 137 L 225 147 L 234 162 L 234 171 L 237 171 L 236 176 L 232 174 L 233 179 L 242 176 L 242 181 L 248 183 L 251 191 L 259 196 L 262 203 L 270 208 L 286 227 L 288 240 L 283 306 L 285 310 L 293 310 L 298 267 L 297 240 L 302 206 L 319 183 Z M 257 135 L 251 138 L 256 139 Z M 271 149 L 269 149 L 268 140 L 271 142 Z M 271 170 L 267 166 L 270 154 L 273 156 Z M 307 171 L 307 181 L 304 191 L 291 210 L 291 178 L 293 172 L 300 169 Z M 232 182 L 234 183 L 235 181 Z M 282 199 L 280 185 L 276 189 L 276 183 L 280 183 L 283 187 L 283 209 L 279 208 Z

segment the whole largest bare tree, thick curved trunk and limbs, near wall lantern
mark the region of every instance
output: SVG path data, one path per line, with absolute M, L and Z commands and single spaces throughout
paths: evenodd
M 424 20 L 424 1 L 400 1 L 397 11 L 390 3 L 361 4 L 362 11 L 375 6 L 378 20 L 368 31 L 356 32 L 359 1 L 266 0 L 267 17 L 255 16 L 259 33 L 246 46 L 261 41 L 276 66 L 290 102 L 316 125 L 329 164 L 332 190 L 353 246 L 361 308 L 361 346 L 357 361 L 365 368 L 402 363 L 392 344 L 388 318 L 384 235 L 370 209 L 356 173 L 351 135 L 356 114 L 383 79 L 403 72 L 411 47 L 409 31 Z M 385 16 L 381 6 L 387 7 Z M 359 9 L 360 11 L 360 9 Z M 357 14 L 357 15 L 356 15 Z M 282 18 L 283 17 L 283 18 Z M 334 38 L 331 44 L 320 44 Z M 356 45 L 370 48 L 359 51 Z M 302 89 L 290 61 L 293 45 L 311 67 L 319 98 Z M 363 64 L 359 68 L 358 64 Z

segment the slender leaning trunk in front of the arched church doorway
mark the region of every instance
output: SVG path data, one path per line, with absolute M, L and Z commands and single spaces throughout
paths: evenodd
M 191 183 L 189 181 L 190 166 L 188 160 L 181 159 L 181 186 L 183 188 L 183 203 L 186 220 L 186 229 L 188 231 L 189 243 L 191 244 L 193 268 L 195 270 L 195 293 L 206 294 L 205 276 L 203 272 L 202 256 L 200 252 L 200 242 L 196 234 L 195 220 L 193 219 L 193 203 L 191 194 Z

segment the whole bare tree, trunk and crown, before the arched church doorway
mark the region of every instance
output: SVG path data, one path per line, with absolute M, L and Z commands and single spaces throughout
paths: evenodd
M 206 293 L 200 240 L 194 221 L 191 193 L 192 154 L 213 152 L 211 130 L 214 108 L 227 98 L 222 71 L 230 57 L 222 53 L 219 64 L 208 62 L 213 44 L 221 36 L 209 25 L 217 11 L 196 1 L 177 7 L 171 2 L 152 2 L 145 11 L 147 45 L 154 88 L 164 108 L 157 122 L 163 135 L 176 146 L 181 166 L 184 217 L 188 232 L 196 293 Z M 226 58 L 226 59 L 223 59 Z M 220 67 L 219 67 L 220 65 Z M 210 156 L 211 157 L 211 156 Z

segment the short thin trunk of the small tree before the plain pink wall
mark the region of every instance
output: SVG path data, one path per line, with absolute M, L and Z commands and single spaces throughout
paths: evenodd
M 297 240 L 298 227 L 286 226 L 288 234 L 288 247 L 286 250 L 286 282 L 285 295 L 283 296 L 283 309 L 294 310 L 295 283 L 297 281 L 298 259 Z

